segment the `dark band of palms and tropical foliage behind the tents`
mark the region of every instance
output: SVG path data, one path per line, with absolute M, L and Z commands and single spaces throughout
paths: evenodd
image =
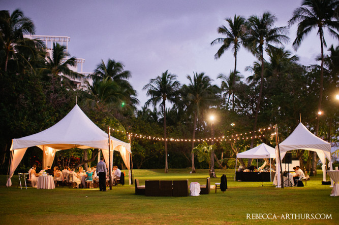
M 52 126 L 76 102 L 101 129 L 115 128 L 119 132 L 111 131 L 113 136 L 131 141 L 134 168 L 168 172 L 169 168 L 191 167 L 195 172 L 196 168 L 214 169 L 214 160 L 219 168 L 234 167 L 237 153 L 263 142 L 275 145 L 271 130 L 275 124 L 280 137 L 286 138 L 300 115 L 312 132 L 338 142 L 339 47 L 324 50 L 325 31 L 338 39 L 337 8 L 337 1 L 305 0 L 288 24 L 298 23 L 294 48 L 317 29 L 321 65 L 300 64 L 299 57 L 284 46 L 289 40 L 288 27 L 276 27 L 273 14 L 234 15 L 218 27 L 222 37 L 211 43 L 220 45 L 215 59 L 232 51 L 234 68 L 225 68 L 219 75 L 193 72 L 182 85 L 178 76 L 184 74 L 176 76 L 166 70 L 144 84 L 148 100 L 140 108 L 130 83 L 133 74 L 122 62 L 98 59 L 93 73 L 84 78 L 72 70 L 77 59 L 65 46 L 54 43 L 48 55 L 41 41 L 24 37 L 34 34 L 35 26 L 20 10 L 0 11 L 0 169 L 7 169 L 11 139 Z M 237 69 L 241 48 L 257 58 L 245 68 L 250 73 L 246 78 Z M 83 85 L 76 86 L 75 80 Z M 321 117 L 316 116 L 320 109 Z M 213 131 L 208 121 L 211 112 L 217 118 Z M 74 148 L 58 153 L 54 164 L 87 167 L 98 152 Z M 318 161 L 312 154 L 303 150 L 293 154 L 306 170 L 313 163 L 314 170 Z M 19 168 L 25 171 L 41 161 L 40 149 L 32 148 Z M 118 155 L 114 161 L 122 164 Z M 252 160 L 240 159 L 239 163 L 249 166 Z

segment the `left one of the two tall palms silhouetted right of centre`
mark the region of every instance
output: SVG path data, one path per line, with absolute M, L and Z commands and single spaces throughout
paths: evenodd
M 245 21 L 246 19 L 242 16 L 236 16 L 234 15 L 234 20 L 232 21 L 232 18 L 226 18 L 225 21 L 228 22 L 228 25 L 230 29 L 228 29 L 226 26 L 220 26 L 218 27 L 218 33 L 226 35 L 226 37 L 219 37 L 218 39 L 215 39 L 211 45 L 215 44 L 222 44 L 218 52 L 214 55 L 215 59 L 219 59 L 226 50 L 228 50 L 233 45 L 233 55 L 234 55 L 234 70 L 236 71 L 236 65 L 237 65 L 237 53 L 241 47 L 241 45 L 244 44 L 243 37 L 245 33 Z M 233 80 L 235 82 L 235 80 Z M 234 86 L 234 83 L 232 84 Z

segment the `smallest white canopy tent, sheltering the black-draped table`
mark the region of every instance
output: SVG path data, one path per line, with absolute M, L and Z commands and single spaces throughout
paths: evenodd
M 265 143 L 262 143 L 248 151 L 238 153 L 235 161 L 235 171 L 237 168 L 238 158 L 240 159 L 268 159 L 269 164 L 271 164 L 271 159 L 275 159 L 275 149 Z M 269 165 L 271 171 L 271 165 Z M 270 172 L 271 173 L 271 172 Z M 235 172 L 234 172 L 235 180 Z

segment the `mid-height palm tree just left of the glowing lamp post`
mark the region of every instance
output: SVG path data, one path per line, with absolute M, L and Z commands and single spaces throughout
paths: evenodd
M 193 119 L 193 137 L 192 137 L 192 149 L 194 148 L 195 132 L 197 128 L 197 119 L 201 115 L 202 111 L 207 109 L 208 106 L 215 102 L 216 94 L 220 92 L 220 89 L 211 85 L 211 79 L 205 75 L 204 72 L 193 72 L 193 78 L 187 76 L 190 84 L 182 86 L 183 102 L 187 105 L 188 111 L 194 112 Z M 195 173 L 194 166 L 194 153 L 191 154 L 192 159 L 192 173 Z

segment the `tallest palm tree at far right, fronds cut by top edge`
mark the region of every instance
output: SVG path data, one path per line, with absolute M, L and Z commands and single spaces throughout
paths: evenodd
M 339 21 L 336 19 L 335 9 L 339 2 L 336 0 L 304 0 L 301 7 L 293 12 L 292 18 L 288 21 L 289 25 L 298 24 L 297 36 L 293 42 L 293 47 L 297 50 L 303 41 L 304 37 L 309 34 L 313 28 L 318 29 L 317 33 L 320 38 L 321 47 L 321 70 L 320 70 L 320 92 L 318 111 L 321 111 L 321 101 L 323 97 L 323 80 L 324 80 L 324 28 L 327 28 L 329 33 L 339 40 L 339 34 L 335 30 L 339 30 Z M 319 131 L 319 119 L 317 119 L 316 135 Z M 315 153 L 316 156 L 316 153 Z M 314 160 L 315 161 L 315 160 Z M 314 162 L 315 165 L 315 162 Z M 315 168 L 313 168 L 315 169 Z

